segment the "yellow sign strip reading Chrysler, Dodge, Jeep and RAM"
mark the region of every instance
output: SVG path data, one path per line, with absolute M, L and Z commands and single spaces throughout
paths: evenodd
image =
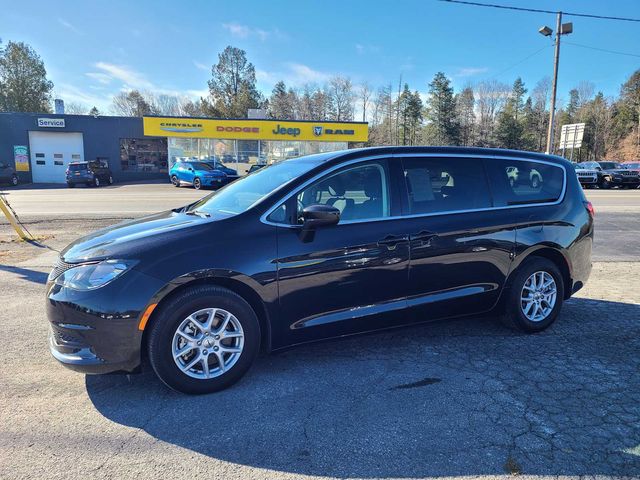
M 366 142 L 369 139 L 369 125 L 360 122 L 216 120 L 174 117 L 143 117 L 142 120 L 144 134 L 153 137 L 315 142 Z

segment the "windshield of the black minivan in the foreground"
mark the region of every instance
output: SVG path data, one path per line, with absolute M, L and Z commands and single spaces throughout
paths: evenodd
M 309 155 L 261 168 L 195 203 L 190 211 L 237 215 L 308 172 L 327 155 Z

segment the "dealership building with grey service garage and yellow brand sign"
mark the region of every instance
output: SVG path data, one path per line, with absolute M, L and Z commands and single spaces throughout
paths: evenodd
M 226 120 L 0 113 L 0 160 L 20 182 L 64 183 L 70 162 L 99 160 L 116 182 L 166 179 L 174 162 L 254 163 L 343 150 L 368 140 L 363 122 Z

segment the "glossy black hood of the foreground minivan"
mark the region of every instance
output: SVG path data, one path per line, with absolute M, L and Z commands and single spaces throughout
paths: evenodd
M 211 218 L 174 211 L 119 223 L 79 238 L 61 255 L 65 262 L 77 263 L 107 258 L 136 258 L 149 251 L 190 235 L 194 228 L 209 224 Z

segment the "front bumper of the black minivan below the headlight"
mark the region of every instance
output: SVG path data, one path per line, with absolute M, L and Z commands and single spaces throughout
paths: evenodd
M 51 354 L 65 367 L 82 373 L 134 371 L 142 351 L 138 323 L 160 288 L 158 280 L 135 270 L 88 292 L 49 282 L 46 312 Z

